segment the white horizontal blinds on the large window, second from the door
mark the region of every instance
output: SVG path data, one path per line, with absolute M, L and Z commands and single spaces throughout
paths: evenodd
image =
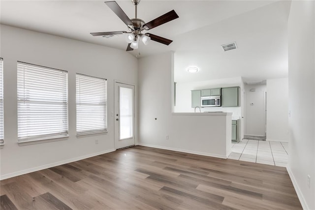
M 68 135 L 67 72 L 18 62 L 18 141 Z

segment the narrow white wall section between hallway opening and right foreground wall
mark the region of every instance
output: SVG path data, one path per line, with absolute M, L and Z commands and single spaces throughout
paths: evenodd
M 267 139 L 289 141 L 288 78 L 267 80 Z

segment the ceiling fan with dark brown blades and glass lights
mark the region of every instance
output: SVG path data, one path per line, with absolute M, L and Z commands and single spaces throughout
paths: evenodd
M 145 23 L 143 20 L 137 18 L 137 5 L 140 0 L 131 0 L 135 6 L 135 18 L 129 19 L 122 8 L 116 1 L 105 1 L 106 5 L 127 25 L 129 32 L 127 31 L 110 31 L 110 32 L 95 32 L 91 33 L 93 36 L 105 36 L 114 34 L 125 34 L 126 41 L 128 43 L 126 51 L 138 49 L 138 42 L 141 41 L 147 45 L 150 40 L 169 45 L 172 40 L 154 35 L 152 33 L 143 33 L 143 30 L 150 30 L 164 23 L 172 21 L 178 18 L 178 15 L 174 10 L 159 16 L 158 18 Z

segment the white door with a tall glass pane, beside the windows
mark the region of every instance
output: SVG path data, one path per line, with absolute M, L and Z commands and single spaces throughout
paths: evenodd
M 134 86 L 115 82 L 115 148 L 134 145 Z

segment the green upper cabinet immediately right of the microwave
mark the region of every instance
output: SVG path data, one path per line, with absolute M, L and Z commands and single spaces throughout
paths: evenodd
M 221 107 L 238 107 L 239 87 L 221 89 Z

